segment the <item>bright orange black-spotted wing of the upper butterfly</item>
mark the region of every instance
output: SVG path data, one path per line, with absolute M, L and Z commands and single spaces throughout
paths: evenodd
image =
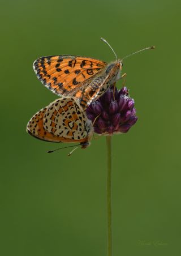
M 73 96 L 80 91 L 81 97 L 88 79 L 104 70 L 106 62 L 80 56 L 48 56 L 33 63 L 37 78 L 58 96 Z

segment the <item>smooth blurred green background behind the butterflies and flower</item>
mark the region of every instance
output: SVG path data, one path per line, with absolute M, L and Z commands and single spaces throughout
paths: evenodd
M 106 143 L 48 155 L 25 127 L 57 96 L 33 61 L 124 61 L 139 120 L 113 137 L 113 255 L 181 255 L 180 1 L 1 1 L 2 256 L 106 255 Z M 122 82 L 118 82 L 118 87 Z

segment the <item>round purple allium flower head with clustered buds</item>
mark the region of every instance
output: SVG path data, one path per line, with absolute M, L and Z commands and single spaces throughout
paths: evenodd
M 86 112 L 92 121 L 94 132 L 100 135 L 127 133 L 136 121 L 135 101 L 128 89 L 110 87 L 97 101 L 91 103 Z

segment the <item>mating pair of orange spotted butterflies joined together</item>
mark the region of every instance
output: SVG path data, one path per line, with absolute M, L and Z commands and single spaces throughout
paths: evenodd
M 48 56 L 38 58 L 33 69 L 44 86 L 61 99 L 31 118 L 28 133 L 49 142 L 79 142 L 82 148 L 89 146 L 93 127 L 84 110 L 120 78 L 122 62 L 117 59 L 107 64 L 80 56 Z

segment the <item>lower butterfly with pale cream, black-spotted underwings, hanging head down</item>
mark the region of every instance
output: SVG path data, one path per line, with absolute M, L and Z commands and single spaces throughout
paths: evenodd
M 73 97 L 62 97 L 38 111 L 29 120 L 27 132 L 48 142 L 79 142 L 87 148 L 93 126 Z

